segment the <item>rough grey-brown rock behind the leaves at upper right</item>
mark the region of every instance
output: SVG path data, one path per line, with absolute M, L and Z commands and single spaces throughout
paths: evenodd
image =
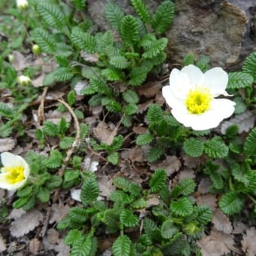
M 126 14 L 134 14 L 129 0 L 116 1 Z M 153 13 L 161 1 L 145 1 Z M 182 62 L 187 53 L 207 55 L 212 66 L 234 70 L 256 50 L 256 0 L 176 0 L 175 18 L 166 36 L 167 56 Z M 109 29 L 105 0 L 87 0 L 88 14 L 100 30 Z

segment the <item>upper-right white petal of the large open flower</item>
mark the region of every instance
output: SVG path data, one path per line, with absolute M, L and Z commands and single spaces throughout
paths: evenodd
M 206 86 L 211 88 L 212 95 L 227 95 L 226 87 L 228 83 L 227 72 L 221 68 L 213 68 L 204 74 Z

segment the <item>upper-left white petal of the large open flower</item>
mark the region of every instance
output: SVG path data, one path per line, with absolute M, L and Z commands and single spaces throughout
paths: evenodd
M 175 97 L 184 99 L 190 90 L 190 80 L 187 74 L 180 72 L 178 69 L 172 69 L 169 76 L 169 85 Z

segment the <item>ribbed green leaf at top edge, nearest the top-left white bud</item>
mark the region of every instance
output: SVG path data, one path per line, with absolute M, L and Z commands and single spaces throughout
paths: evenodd
M 40 2 L 37 5 L 37 11 L 48 26 L 56 29 L 62 29 L 66 25 L 66 17 L 58 5 L 52 5 L 49 2 Z

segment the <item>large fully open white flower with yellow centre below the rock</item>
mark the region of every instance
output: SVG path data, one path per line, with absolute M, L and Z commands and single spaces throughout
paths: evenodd
M 163 97 L 178 122 L 193 130 L 207 130 L 218 126 L 235 110 L 235 102 L 215 99 L 221 94 L 228 96 L 227 82 L 228 75 L 221 68 L 203 74 L 196 66 L 189 65 L 181 71 L 172 69 L 169 85 L 163 87 Z

